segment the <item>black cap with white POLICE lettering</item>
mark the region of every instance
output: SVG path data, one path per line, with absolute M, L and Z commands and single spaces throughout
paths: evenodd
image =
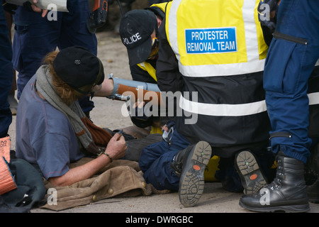
M 151 34 L 157 27 L 155 13 L 145 9 L 128 11 L 121 18 L 120 35 L 128 50 L 130 65 L 144 62 L 152 49 Z

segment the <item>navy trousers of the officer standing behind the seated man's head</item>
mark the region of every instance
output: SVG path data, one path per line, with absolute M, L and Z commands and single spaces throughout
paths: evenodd
M 23 6 L 19 6 L 13 14 L 16 31 L 13 38 L 13 67 L 18 71 L 18 99 L 48 52 L 56 48 L 61 50 L 80 45 L 94 55 L 97 54 L 96 35 L 89 33 L 86 28 L 89 1 L 69 0 L 67 9 L 69 13 L 57 12 L 56 21 L 49 21 L 49 14 L 42 18 L 41 13 L 35 13 Z M 80 104 L 84 112 L 93 108 L 89 98 Z

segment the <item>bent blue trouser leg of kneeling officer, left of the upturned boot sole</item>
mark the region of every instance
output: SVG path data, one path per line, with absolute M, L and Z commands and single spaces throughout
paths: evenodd
M 170 165 L 174 155 L 188 146 L 189 142 L 184 135 L 177 133 L 177 130 L 175 130 L 170 143 L 162 140 L 144 148 L 139 165 L 147 184 L 152 184 L 159 190 L 178 191 L 179 176 L 176 175 Z

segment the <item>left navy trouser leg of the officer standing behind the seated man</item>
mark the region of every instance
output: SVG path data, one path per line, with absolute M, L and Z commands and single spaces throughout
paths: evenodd
M 43 62 L 43 57 L 57 47 L 60 35 L 62 13 L 57 13 L 57 21 L 42 18 L 41 13 L 35 13 L 19 6 L 13 14 L 15 35 L 13 38 L 13 67 L 18 72 L 17 97 L 33 77 Z

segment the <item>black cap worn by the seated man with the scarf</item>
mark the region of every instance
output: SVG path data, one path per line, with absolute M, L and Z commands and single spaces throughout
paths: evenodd
M 60 50 L 53 67 L 58 77 L 77 90 L 89 84 L 101 84 L 104 80 L 103 65 L 99 58 L 79 46 Z

